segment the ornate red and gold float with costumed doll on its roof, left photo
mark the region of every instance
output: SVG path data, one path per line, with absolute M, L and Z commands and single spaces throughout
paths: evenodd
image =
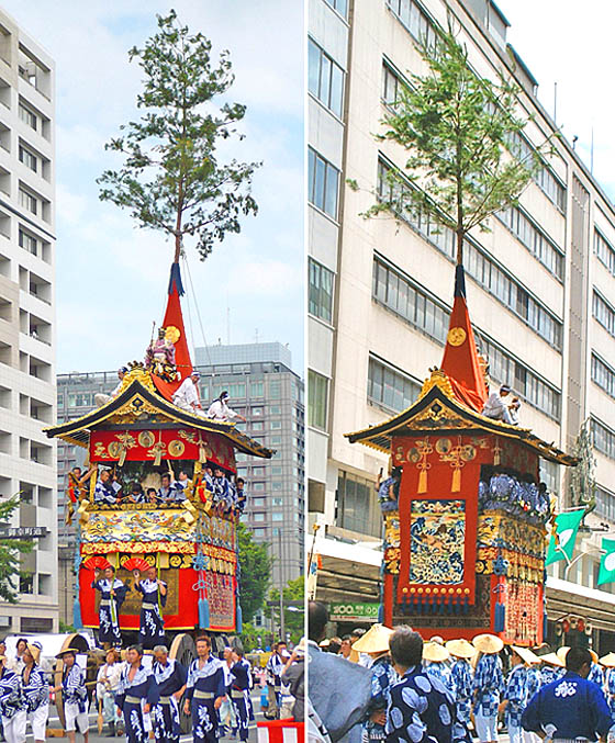
M 193 637 L 205 630 L 216 638 L 242 631 L 237 508 L 222 509 L 208 486 L 205 468 L 220 469 L 228 481 L 236 474 L 235 454 L 270 458 L 272 451 L 245 436 L 233 423 L 212 420 L 178 407 L 172 395 L 192 372 L 180 295 L 179 264 L 171 266 L 161 333 L 149 345 L 144 362 L 127 365 L 115 396 L 76 420 L 46 429 L 88 451 L 93 470 L 82 488 L 71 491 L 77 534 L 75 568 L 78 595 L 76 626 L 99 628 L 100 594 L 91 587 L 93 568 L 111 563 L 128 586 L 120 609 L 122 632 L 139 628 L 141 594 L 131 589 L 133 570 L 155 567 L 168 586 L 163 609 L 171 657 L 194 656 Z M 128 494 L 131 483 L 158 489 L 161 476 L 176 481 L 188 474 L 180 503 L 94 503 L 102 470 L 112 473 Z M 221 641 L 217 642 L 221 644 Z

